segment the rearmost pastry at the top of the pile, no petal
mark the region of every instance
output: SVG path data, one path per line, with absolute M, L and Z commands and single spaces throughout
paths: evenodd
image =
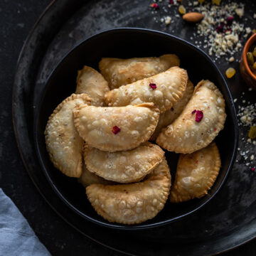
M 102 58 L 99 68 L 113 90 L 121 85 L 149 78 L 179 64 L 177 55 L 165 54 L 159 58 Z

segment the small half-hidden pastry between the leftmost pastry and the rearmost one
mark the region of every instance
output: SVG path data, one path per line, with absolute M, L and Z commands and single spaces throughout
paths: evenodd
M 86 65 L 78 70 L 75 93 L 86 93 L 92 100 L 92 106 L 105 106 L 104 95 L 109 91 L 107 81 L 97 70 Z

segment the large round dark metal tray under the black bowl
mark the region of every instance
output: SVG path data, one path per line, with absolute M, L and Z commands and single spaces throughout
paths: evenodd
M 28 174 L 50 206 L 92 240 L 130 255 L 217 254 L 256 237 L 255 174 L 245 166 L 240 155 L 218 195 L 197 213 L 160 228 L 122 231 L 92 224 L 60 201 L 41 170 L 33 146 L 33 102 L 60 58 L 79 41 L 117 26 L 152 28 L 190 38 L 191 26 L 185 28 L 182 23 L 176 23 L 166 27 L 156 23 L 149 4 L 150 1 L 127 0 L 56 0 L 50 4 L 33 27 L 18 60 L 13 90 L 18 148 Z M 225 60 L 218 67 L 225 70 Z M 232 83 L 228 82 L 234 98 L 240 98 L 245 91 L 244 97 L 255 102 L 255 92 L 247 92 L 239 74 Z M 240 127 L 240 134 L 245 132 Z

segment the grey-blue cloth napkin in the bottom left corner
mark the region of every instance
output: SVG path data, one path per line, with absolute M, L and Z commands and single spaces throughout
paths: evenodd
M 46 247 L 0 188 L 0 255 L 50 256 Z

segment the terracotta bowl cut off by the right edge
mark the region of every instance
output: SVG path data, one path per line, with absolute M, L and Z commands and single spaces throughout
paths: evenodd
M 245 43 L 245 48 L 242 51 L 242 58 L 240 61 L 240 72 L 241 72 L 242 78 L 245 80 L 247 85 L 252 87 L 254 90 L 256 90 L 256 75 L 254 75 L 252 73 L 252 70 L 250 70 L 249 65 L 247 63 L 247 58 L 246 58 L 246 53 L 254 43 L 256 43 L 256 33 L 253 34 Z

